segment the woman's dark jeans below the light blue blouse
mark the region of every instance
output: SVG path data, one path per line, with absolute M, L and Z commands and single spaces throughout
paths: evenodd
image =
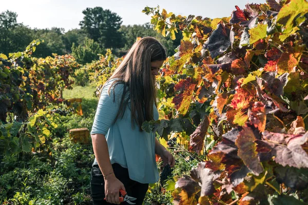
M 148 190 L 148 183 L 139 183 L 138 181 L 131 180 L 128 176 L 128 169 L 121 167 L 118 163 L 112 164 L 112 169 L 115 177 L 117 177 L 124 185 L 128 196 L 137 198 L 132 201 L 136 205 L 142 205 L 145 194 Z M 109 205 L 104 200 L 105 198 L 105 181 L 102 172 L 98 165 L 93 165 L 91 170 L 91 196 L 93 204 Z M 119 194 L 120 196 L 120 194 Z M 127 202 L 121 204 L 129 204 Z

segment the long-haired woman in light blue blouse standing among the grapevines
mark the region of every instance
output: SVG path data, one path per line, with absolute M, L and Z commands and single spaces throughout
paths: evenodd
M 120 189 L 142 204 L 148 184 L 159 179 L 155 154 L 164 165 L 175 165 L 155 133 L 141 129 L 144 121 L 158 120 L 155 76 L 165 59 L 158 40 L 141 38 L 103 87 L 91 130 L 94 204 L 119 204 Z

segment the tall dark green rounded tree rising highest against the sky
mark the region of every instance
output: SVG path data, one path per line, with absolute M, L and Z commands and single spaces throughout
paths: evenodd
M 117 13 L 102 7 L 87 8 L 82 13 L 85 16 L 80 26 L 89 38 L 99 42 L 104 48 L 123 46 L 122 34 L 119 32 L 122 18 Z

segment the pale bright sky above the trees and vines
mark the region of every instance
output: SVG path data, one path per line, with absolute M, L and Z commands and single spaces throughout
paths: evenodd
M 265 0 L 0 0 L 0 12 L 17 13 L 17 23 L 31 28 L 80 28 L 82 11 L 96 6 L 109 9 L 122 17 L 122 25 L 144 24 L 150 16 L 142 13 L 144 7 L 160 6 L 176 15 L 201 15 L 216 18 L 230 16 L 235 6 L 245 8 L 246 3 L 265 3 Z

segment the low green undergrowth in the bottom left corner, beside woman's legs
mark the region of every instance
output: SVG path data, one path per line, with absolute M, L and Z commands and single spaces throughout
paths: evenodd
M 63 136 L 62 136 L 63 137 Z M 13 155 L 14 156 L 14 155 Z M 52 139 L 49 151 L 5 158 L 0 202 L 6 204 L 90 204 L 89 145 L 72 144 L 68 136 Z

